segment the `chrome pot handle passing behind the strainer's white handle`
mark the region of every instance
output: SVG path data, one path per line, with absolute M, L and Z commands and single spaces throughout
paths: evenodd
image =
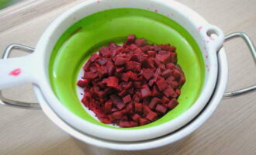
M 2 59 L 8 59 L 12 50 L 22 50 L 28 53 L 33 53 L 34 49 L 31 47 L 26 47 L 19 44 L 11 44 L 6 47 Z M 10 105 L 17 108 L 28 108 L 28 109 L 40 109 L 40 105 L 38 103 L 28 103 L 28 102 L 19 102 L 13 101 L 8 98 L 2 96 L 2 91 L 0 90 L 0 104 L 1 105 Z

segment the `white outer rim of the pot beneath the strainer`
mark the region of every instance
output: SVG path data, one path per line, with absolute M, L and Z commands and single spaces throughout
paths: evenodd
M 78 140 L 82 142 L 91 144 L 93 146 L 99 146 L 102 148 L 112 149 L 112 150 L 148 150 L 157 148 L 160 146 L 168 145 L 171 143 L 175 143 L 178 140 L 182 140 L 185 136 L 189 136 L 189 134 L 193 133 L 195 129 L 198 129 L 199 126 L 202 126 L 204 122 L 213 114 L 217 106 L 220 104 L 220 101 L 223 97 L 223 93 L 227 86 L 227 77 L 228 77 L 228 70 L 227 70 L 227 57 L 224 49 L 221 49 L 218 55 L 219 60 L 219 74 L 218 74 L 218 81 L 216 83 L 216 89 L 213 93 L 212 98 L 203 109 L 203 111 L 196 117 L 195 120 L 189 122 L 188 125 L 178 129 L 174 133 L 170 133 L 166 136 L 162 136 L 161 138 L 157 138 L 154 140 L 145 140 L 140 142 L 134 143 L 122 143 L 122 142 L 114 142 L 109 140 L 101 140 L 99 138 L 89 136 L 85 133 L 79 132 L 77 129 L 72 128 L 66 122 L 64 122 L 60 117 L 56 115 L 52 108 L 47 104 L 45 98 L 40 92 L 40 88 L 35 87 L 34 90 L 36 92 L 36 96 L 42 105 L 43 112 L 47 114 L 47 116 L 60 126 L 61 129 L 64 129 L 67 133 L 71 136 L 74 136 Z

